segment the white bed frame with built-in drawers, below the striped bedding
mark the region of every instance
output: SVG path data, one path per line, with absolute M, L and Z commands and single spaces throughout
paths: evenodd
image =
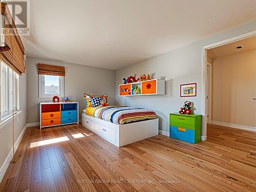
M 82 113 L 82 125 L 117 147 L 158 135 L 158 119 L 115 124 Z

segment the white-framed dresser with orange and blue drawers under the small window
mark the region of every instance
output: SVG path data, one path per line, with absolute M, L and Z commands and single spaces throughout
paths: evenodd
M 40 104 L 40 129 L 63 124 L 78 124 L 78 102 L 42 102 Z

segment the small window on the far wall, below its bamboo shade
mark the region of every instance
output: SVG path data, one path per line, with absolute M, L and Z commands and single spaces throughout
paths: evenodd
M 39 97 L 64 97 L 64 77 L 55 75 L 39 75 Z

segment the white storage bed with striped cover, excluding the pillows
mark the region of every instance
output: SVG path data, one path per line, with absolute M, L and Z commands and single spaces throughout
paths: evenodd
M 89 107 L 82 125 L 117 147 L 158 135 L 154 112 L 128 106 Z

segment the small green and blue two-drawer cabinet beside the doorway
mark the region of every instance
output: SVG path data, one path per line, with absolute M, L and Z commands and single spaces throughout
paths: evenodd
M 170 113 L 170 137 L 193 144 L 201 141 L 201 115 Z

